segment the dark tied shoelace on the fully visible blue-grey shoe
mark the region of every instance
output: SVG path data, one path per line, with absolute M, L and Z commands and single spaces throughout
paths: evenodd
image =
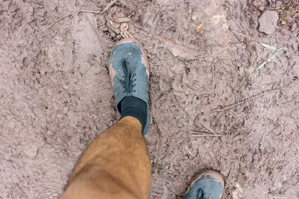
M 125 89 L 124 93 L 136 92 L 133 90 L 133 88 L 136 86 L 136 84 L 133 84 L 136 81 L 136 79 L 133 79 L 136 76 L 136 73 L 131 73 L 130 66 L 127 64 L 126 60 L 123 62 L 122 66 L 125 72 L 125 75 L 123 76 L 125 80 L 120 80 L 120 82 Z

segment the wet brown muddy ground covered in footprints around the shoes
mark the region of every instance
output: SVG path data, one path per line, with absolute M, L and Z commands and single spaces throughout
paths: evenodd
M 299 199 L 299 1 L 118 0 L 78 12 L 109 2 L 0 0 L 0 198 L 59 198 L 83 150 L 118 121 L 107 66 L 125 33 L 149 54 L 150 199 L 181 199 L 205 168 L 225 177 L 224 199 Z M 270 9 L 279 19 L 267 35 L 258 20 Z M 274 53 L 262 43 L 288 50 L 255 77 Z

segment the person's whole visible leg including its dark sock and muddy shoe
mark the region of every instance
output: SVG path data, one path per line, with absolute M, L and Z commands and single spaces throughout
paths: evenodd
M 121 120 L 99 135 L 75 167 L 62 199 L 147 199 L 151 165 L 143 135 L 150 126 L 149 63 L 140 41 L 114 46 L 109 73 Z

